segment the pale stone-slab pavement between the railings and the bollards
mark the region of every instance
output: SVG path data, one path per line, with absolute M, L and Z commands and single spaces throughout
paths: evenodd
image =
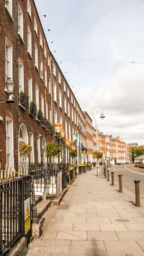
M 44 215 L 27 255 L 144 255 L 144 208 L 93 169 L 78 175 L 60 206 Z

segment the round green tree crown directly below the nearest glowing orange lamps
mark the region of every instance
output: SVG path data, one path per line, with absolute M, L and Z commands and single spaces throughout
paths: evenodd
M 45 155 L 48 157 L 58 156 L 62 151 L 62 146 L 55 143 L 48 143 L 45 146 Z

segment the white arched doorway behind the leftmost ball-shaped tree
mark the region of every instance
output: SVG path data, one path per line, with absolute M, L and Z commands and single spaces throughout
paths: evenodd
M 28 138 L 28 134 L 27 134 L 27 128 L 24 125 L 24 123 L 22 123 L 22 125 L 20 125 L 19 127 L 19 142 L 20 141 L 24 141 L 25 143 L 29 143 L 29 138 Z M 19 163 L 28 163 L 29 159 L 23 159 L 23 157 L 19 156 Z

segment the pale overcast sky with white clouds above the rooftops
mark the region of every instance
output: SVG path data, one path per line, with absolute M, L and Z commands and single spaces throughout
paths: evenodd
M 50 28 L 50 50 L 82 110 L 91 115 L 99 107 L 106 115 L 100 120 L 95 113 L 100 131 L 144 144 L 144 0 L 35 4 L 47 16 L 40 19 Z

